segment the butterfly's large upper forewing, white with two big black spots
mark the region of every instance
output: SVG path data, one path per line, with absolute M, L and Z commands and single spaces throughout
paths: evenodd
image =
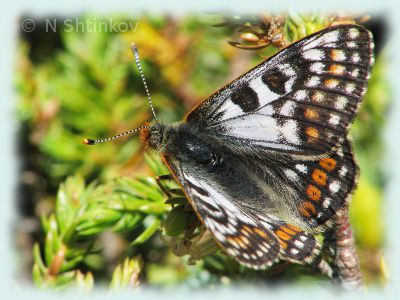
M 372 64 L 368 30 L 330 27 L 234 80 L 193 109 L 186 121 L 244 151 L 330 152 L 345 139 Z

